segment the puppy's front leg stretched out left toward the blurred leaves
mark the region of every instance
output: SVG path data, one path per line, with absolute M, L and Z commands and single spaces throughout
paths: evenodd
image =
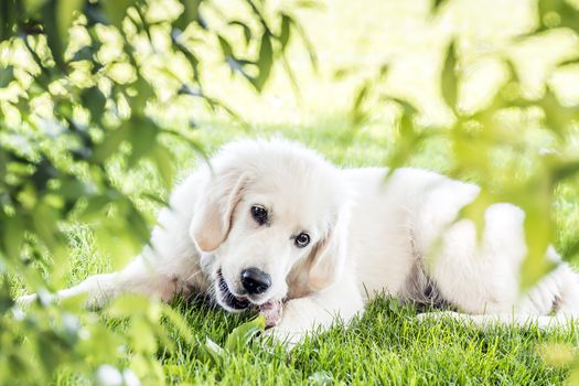
M 127 267 L 118 272 L 89 277 L 75 287 L 56 292 L 56 298 L 86 293 L 87 305 L 98 308 L 121 293 L 139 293 L 168 301 L 185 288 L 202 287 L 199 254 L 189 236 L 196 183 L 193 175 L 175 189 L 171 206 L 159 213 L 159 225 L 153 229 L 150 246 Z M 25 304 L 36 297 L 30 294 L 18 301 Z

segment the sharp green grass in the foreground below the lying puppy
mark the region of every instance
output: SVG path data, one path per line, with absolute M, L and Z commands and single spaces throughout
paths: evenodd
M 203 305 L 182 305 L 200 334 L 223 342 L 237 318 Z M 543 334 L 497 329 L 479 330 L 449 322 L 418 322 L 410 307 L 374 301 L 350 328 L 336 325 L 287 353 L 259 340 L 223 366 L 207 366 L 195 350 L 167 358 L 173 382 L 227 384 L 553 384 L 566 372 L 549 368 L 537 344 L 569 342 L 575 333 Z M 233 322 L 232 322 L 233 320 Z

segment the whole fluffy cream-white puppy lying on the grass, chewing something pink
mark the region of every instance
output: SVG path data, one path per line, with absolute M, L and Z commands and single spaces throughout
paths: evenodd
M 86 292 L 101 305 L 121 292 L 167 301 L 201 291 L 229 311 L 283 301 L 269 331 L 292 342 L 337 315 L 349 321 L 376 293 L 448 303 L 481 324 L 529 317 L 549 324 L 579 313 L 579 277 L 553 249 L 558 268 L 519 293 L 519 208 L 491 205 L 479 237 L 458 218 L 478 186 L 415 169 L 386 176 L 339 170 L 287 141 L 232 143 L 174 190 L 141 256 L 58 297 Z M 268 278 L 265 291 L 244 281 L 248 268 Z M 554 311 L 559 317 L 546 317 Z

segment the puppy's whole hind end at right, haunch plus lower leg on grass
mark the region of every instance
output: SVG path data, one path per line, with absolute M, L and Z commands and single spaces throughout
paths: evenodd
M 430 275 L 442 297 L 465 313 L 426 313 L 419 318 L 452 318 L 481 328 L 505 324 L 549 329 L 573 323 L 579 318 L 579 276 L 553 247 L 545 258 L 558 267 L 530 290 L 519 291 L 526 255 L 523 219 L 524 213 L 513 205 L 491 205 L 481 240 L 471 221 L 453 224 L 442 237 Z

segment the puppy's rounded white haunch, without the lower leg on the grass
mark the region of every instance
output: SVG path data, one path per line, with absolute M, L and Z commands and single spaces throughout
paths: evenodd
M 426 272 L 446 301 L 468 314 L 512 313 L 526 255 L 524 213 L 493 204 L 480 229 L 462 218 L 443 230 L 438 245 L 421 253 L 427 256 Z

